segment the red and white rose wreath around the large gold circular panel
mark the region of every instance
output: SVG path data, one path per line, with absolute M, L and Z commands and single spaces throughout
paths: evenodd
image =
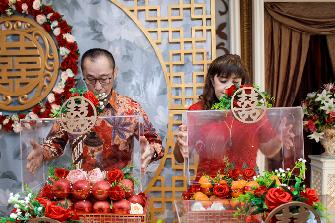
M 0 130 L 20 132 L 20 119 L 50 118 L 50 114 L 59 109 L 60 104 L 70 98 L 70 89 L 75 84 L 74 76 L 78 73 L 78 58 L 80 56 L 75 37 L 71 34 L 72 26 L 62 19 L 62 15 L 55 12 L 41 0 L 0 0 L 0 15 L 10 16 L 18 11 L 21 14 L 30 14 L 37 23 L 47 32 L 53 33 L 58 42 L 59 54 L 62 56 L 60 64 L 61 81 L 47 96 L 47 101 L 35 106 L 28 114 L 2 115 L 0 111 Z

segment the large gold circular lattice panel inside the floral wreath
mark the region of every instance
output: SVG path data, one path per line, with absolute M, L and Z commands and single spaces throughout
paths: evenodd
M 57 46 L 51 35 L 31 19 L 10 16 L 1 18 L 0 23 L 7 28 L 0 26 L 0 108 L 28 109 L 43 100 L 57 80 Z M 10 38 L 17 41 L 7 41 Z

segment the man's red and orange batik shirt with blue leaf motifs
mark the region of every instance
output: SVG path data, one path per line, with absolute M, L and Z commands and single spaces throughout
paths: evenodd
M 112 89 L 109 103 L 105 105 L 102 116 L 142 115 L 143 132 L 150 146 L 157 152 L 156 161 L 164 155 L 162 140 L 149 121 L 141 105 L 133 99 L 116 94 Z M 136 130 L 137 129 L 137 130 Z M 88 146 L 90 132 L 96 132 L 103 142 L 101 147 Z M 57 121 L 43 143 L 44 161 L 58 158 L 64 152 L 69 141 L 72 162 L 82 170 L 89 171 L 96 167 L 109 171 L 112 168 L 122 169 L 133 163 L 133 139 L 138 139 L 138 123 L 132 118 L 98 118 L 95 126 L 87 134 L 68 133 Z M 102 143 L 101 143 L 102 144 Z

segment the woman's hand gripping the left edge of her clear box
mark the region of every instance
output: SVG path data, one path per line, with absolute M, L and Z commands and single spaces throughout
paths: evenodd
M 177 133 L 177 140 L 173 150 L 174 158 L 177 162 L 184 162 L 184 158 L 188 157 L 188 147 L 187 147 L 187 126 L 180 125 L 179 131 Z

